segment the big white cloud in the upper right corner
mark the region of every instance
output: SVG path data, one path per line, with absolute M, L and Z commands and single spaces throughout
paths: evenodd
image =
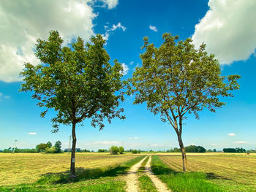
M 221 64 L 246 60 L 255 52 L 255 0 L 209 0 L 210 9 L 195 26 L 196 47 L 206 43 Z

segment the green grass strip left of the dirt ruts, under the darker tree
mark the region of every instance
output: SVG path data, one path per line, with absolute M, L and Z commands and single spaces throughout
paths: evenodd
M 0 191 L 125 191 L 125 182 L 119 176 L 138 163 L 145 155 L 138 156 L 124 164 L 102 169 L 76 169 L 77 179 L 69 180 L 69 173 L 45 174 L 36 183 L 0 187 Z

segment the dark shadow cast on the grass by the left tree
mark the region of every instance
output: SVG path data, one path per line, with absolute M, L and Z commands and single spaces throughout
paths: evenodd
M 77 174 L 75 180 L 70 179 L 69 171 L 58 173 L 50 172 L 42 174 L 42 177 L 37 180 L 37 184 L 64 184 L 97 179 L 99 177 L 116 177 L 121 174 L 126 174 L 128 168 L 128 166 L 107 167 L 104 169 L 84 169 L 83 167 L 78 167 L 75 169 Z

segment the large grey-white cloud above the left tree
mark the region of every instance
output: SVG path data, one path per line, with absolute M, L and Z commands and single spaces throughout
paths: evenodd
M 94 35 L 92 1 L 0 1 L 0 80 L 20 81 L 25 62 L 38 64 L 34 44 L 47 39 L 50 30 L 58 30 L 66 43 Z

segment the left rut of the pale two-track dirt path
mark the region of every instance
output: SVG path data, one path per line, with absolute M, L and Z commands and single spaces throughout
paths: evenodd
M 138 164 L 135 164 L 134 166 L 129 169 L 129 172 L 127 173 L 127 177 L 125 180 L 127 181 L 127 192 L 137 192 L 138 191 L 138 176 L 137 172 L 140 168 L 142 162 L 146 159 L 143 158 Z

